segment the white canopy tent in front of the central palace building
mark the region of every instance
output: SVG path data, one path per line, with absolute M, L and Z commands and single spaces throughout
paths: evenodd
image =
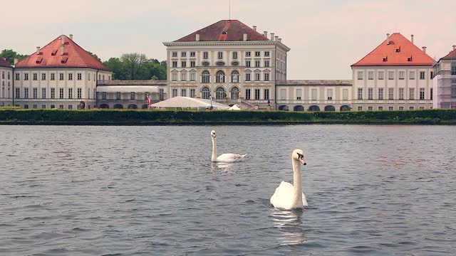
M 211 107 L 211 100 L 177 96 L 177 97 L 172 97 L 168 100 L 163 100 L 162 102 L 157 102 L 155 104 L 152 104 L 152 105 L 150 105 L 150 107 L 205 110 L 205 109 L 208 109 Z M 212 109 L 213 110 L 228 110 L 229 106 L 212 101 Z

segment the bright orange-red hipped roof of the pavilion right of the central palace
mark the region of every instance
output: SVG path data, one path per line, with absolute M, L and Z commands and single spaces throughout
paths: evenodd
M 366 57 L 353 66 L 403 66 L 403 65 L 434 65 L 435 60 L 415 46 L 400 33 L 393 33 Z

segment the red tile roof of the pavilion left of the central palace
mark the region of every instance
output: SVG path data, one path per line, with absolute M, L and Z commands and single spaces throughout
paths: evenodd
M 64 39 L 62 53 L 61 38 Z M 96 70 L 108 70 L 100 61 L 88 54 L 86 50 L 78 46 L 71 38 L 62 35 L 54 39 L 47 46 L 40 49 L 39 55 L 32 53 L 24 60 L 16 64 L 16 68 L 93 68 Z

